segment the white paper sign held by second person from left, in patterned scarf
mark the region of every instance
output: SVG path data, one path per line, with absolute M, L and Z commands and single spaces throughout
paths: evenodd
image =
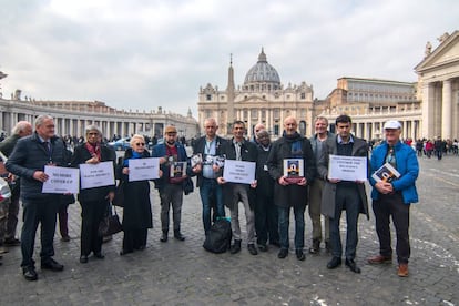
M 114 185 L 113 162 L 80 165 L 81 188 Z

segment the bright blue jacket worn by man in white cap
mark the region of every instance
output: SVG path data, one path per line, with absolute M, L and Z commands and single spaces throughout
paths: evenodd
M 373 150 L 370 160 L 371 175 L 386 163 L 387 150 L 387 142 L 382 142 Z M 416 152 L 400 141 L 394 146 L 394 150 L 397 160 L 397 171 L 400 173 L 400 177 L 391 182 L 394 190 L 401 191 L 404 203 L 417 203 L 418 192 L 416 190 L 416 180 L 419 175 L 419 163 Z M 370 177 L 369 182 L 373 186 L 371 198 L 378 200 L 379 192 L 375 188 L 376 181 Z

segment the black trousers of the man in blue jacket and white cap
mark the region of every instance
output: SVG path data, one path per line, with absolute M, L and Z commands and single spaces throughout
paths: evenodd
M 373 201 L 373 211 L 376 218 L 376 233 L 379 237 L 380 255 L 392 256 L 390 237 L 390 217 L 397 235 L 397 261 L 407 264 L 410 256 L 409 245 L 409 204 L 404 203 L 401 192 L 380 194 L 379 200 Z

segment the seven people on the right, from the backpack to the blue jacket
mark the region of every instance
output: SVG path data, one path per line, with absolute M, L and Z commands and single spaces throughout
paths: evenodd
M 231 253 L 241 251 L 242 235 L 238 222 L 238 206 L 243 204 L 246 218 L 247 249 L 252 255 L 258 251 L 266 252 L 268 244 L 279 247 L 278 258 L 289 253 L 289 215 L 294 212 L 295 237 L 294 247 L 298 261 L 305 259 L 304 234 L 305 211 L 309 205 L 313 225 L 309 253 L 318 254 L 320 243 L 325 243 L 332 259 L 327 268 L 341 265 L 343 244 L 340 218 L 346 211 L 346 246 L 345 265 L 354 273 L 360 273 L 355 262 L 358 243 L 358 217 L 365 214 L 369 218 L 368 200 L 365 181 L 347 181 L 328 177 L 330 155 L 364 157 L 367 161 L 367 175 L 373 186 L 371 200 L 376 217 L 376 231 L 380 241 L 379 254 L 368 258 L 369 264 L 391 262 L 390 217 L 397 232 L 397 261 L 400 277 L 408 276 L 409 247 L 409 207 L 418 202 L 415 182 L 419 165 L 415 151 L 400 141 L 401 124 L 388 121 L 385 124 L 385 136 L 380 145 L 375 147 L 371 160 L 368 159 L 368 145 L 365 140 L 356 137 L 351 132 L 351 119 L 339 115 L 336 119 L 336 134 L 328 131 L 326 118 L 318 116 L 314 122 L 315 134 L 306 139 L 297 132 L 297 121 L 293 116 L 284 120 L 282 137 L 274 143 L 263 124 L 255 125 L 255 137 L 248 141 L 243 121 L 233 123 L 233 137 L 223 140 L 216 135 L 218 125 L 214 119 L 206 119 L 206 134 L 195 142 L 193 154 L 203 155 L 203 164 L 193 169 L 197 175 L 201 200 L 203 203 L 203 224 L 208 232 L 211 207 L 214 203 L 217 216 L 224 216 L 223 206 L 231 211 L 233 243 Z M 226 160 L 256 163 L 255 180 L 251 184 L 226 182 L 222 166 L 215 156 L 224 155 Z M 285 173 L 285 161 L 303 160 L 303 175 L 289 180 Z M 399 176 L 394 181 L 375 181 L 371 174 L 389 163 Z M 222 196 L 223 195 L 223 196 Z M 322 217 L 324 217 L 324 230 Z

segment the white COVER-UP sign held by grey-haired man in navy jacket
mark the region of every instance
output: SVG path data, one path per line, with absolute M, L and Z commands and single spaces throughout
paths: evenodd
M 49 178 L 43 183 L 42 193 L 79 193 L 78 169 L 45 165 L 44 173 Z

